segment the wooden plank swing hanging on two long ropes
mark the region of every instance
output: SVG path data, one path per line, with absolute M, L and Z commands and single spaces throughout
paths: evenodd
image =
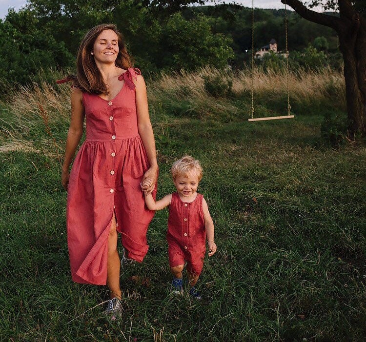
M 285 35 L 286 35 L 286 76 L 287 76 L 287 115 L 277 117 L 264 117 L 254 118 L 254 0 L 252 0 L 252 80 L 251 80 L 251 118 L 248 121 L 264 121 L 264 120 L 277 120 L 277 119 L 291 119 L 294 116 L 291 115 L 290 106 L 290 88 L 289 88 L 289 65 L 288 65 L 288 36 L 287 36 L 287 9 L 285 0 Z

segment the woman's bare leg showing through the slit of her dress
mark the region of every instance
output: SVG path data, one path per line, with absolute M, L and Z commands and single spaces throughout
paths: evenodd
M 120 288 L 120 257 L 117 251 L 117 229 L 116 217 L 113 213 L 111 229 L 108 236 L 108 264 L 107 264 L 107 286 L 110 290 L 110 298 L 121 299 Z

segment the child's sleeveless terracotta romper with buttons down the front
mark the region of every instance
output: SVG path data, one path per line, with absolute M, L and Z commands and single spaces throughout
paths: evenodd
M 173 192 L 166 233 L 170 267 L 187 262 L 187 270 L 197 276 L 202 272 L 206 252 L 202 200 L 203 196 L 197 194 L 193 202 L 183 202 L 178 192 Z

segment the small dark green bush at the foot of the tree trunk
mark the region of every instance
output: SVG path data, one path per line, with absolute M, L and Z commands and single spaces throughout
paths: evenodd
M 346 115 L 327 112 L 320 131 L 322 139 L 332 147 L 346 143 L 348 120 Z

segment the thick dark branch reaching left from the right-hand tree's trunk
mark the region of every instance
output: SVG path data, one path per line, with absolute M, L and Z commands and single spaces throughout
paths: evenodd
M 340 29 L 340 26 L 342 25 L 341 20 L 339 18 L 328 16 L 327 14 L 324 13 L 318 13 L 312 11 L 306 8 L 306 6 L 300 0 L 281 0 L 281 2 L 291 6 L 295 10 L 295 12 L 298 13 L 304 19 L 316 22 L 317 24 L 331 27 L 337 32 Z

